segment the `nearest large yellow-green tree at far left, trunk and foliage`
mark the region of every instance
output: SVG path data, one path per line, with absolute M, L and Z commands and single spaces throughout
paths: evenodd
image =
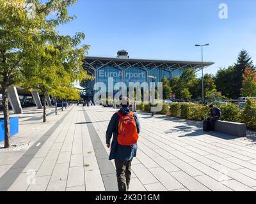
M 76 0 L 0 0 L 0 84 L 3 94 L 4 147 L 10 147 L 8 87 L 20 84 L 24 69 L 35 64 L 41 40 L 49 38 L 54 27 L 65 24 L 67 7 Z M 31 10 L 32 6 L 32 12 Z M 52 18 L 51 18 L 52 17 Z M 31 67 L 33 73 L 33 68 Z

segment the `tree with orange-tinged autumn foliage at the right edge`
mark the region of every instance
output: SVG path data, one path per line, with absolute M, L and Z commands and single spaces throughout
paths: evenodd
M 243 96 L 256 96 L 256 71 L 253 71 L 252 68 L 244 70 L 241 94 Z

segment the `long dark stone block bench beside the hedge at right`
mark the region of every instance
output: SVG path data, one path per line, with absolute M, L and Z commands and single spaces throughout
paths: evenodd
M 214 122 L 214 131 L 235 136 L 246 136 L 246 124 L 218 120 Z

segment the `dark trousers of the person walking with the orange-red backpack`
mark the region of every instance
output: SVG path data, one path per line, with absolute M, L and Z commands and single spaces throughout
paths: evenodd
M 120 161 L 115 159 L 118 191 L 129 191 L 132 174 L 131 163 L 132 159 L 130 161 Z

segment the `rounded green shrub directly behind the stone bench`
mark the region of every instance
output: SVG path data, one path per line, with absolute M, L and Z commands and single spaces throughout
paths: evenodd
M 234 103 L 228 103 L 227 105 L 220 105 L 221 110 L 221 120 L 231 121 L 231 122 L 242 122 L 241 115 L 242 111 Z

